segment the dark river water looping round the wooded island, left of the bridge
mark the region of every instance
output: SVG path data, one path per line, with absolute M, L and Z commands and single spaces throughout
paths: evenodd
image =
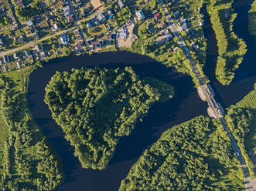
M 119 141 L 114 157 L 106 169 L 101 171 L 81 169 L 78 159 L 73 156 L 73 148 L 64 139 L 62 129 L 51 119 L 50 112 L 43 102 L 44 85 L 56 70 L 63 71 L 94 65 L 107 68 L 123 67 L 125 65 L 120 63 L 127 63 L 128 60 L 128 64 L 135 69 L 138 75 L 153 76 L 175 86 L 176 96 L 168 102 L 152 106 L 148 116 L 135 127 L 131 136 L 124 137 Z M 88 191 L 118 190 L 121 179 L 125 178 L 131 165 L 135 163 L 148 145 L 159 138 L 162 132 L 195 116 L 207 115 L 207 104 L 201 102 L 188 75 L 166 69 L 164 65 L 147 56 L 135 55 L 131 52 L 108 52 L 101 53 L 101 55 L 73 56 L 63 61 L 57 60 L 56 63 L 54 62 L 46 63 L 44 68 L 36 69 L 32 73 L 28 99 L 29 107 L 36 122 L 43 129 L 43 132 L 63 160 L 66 179 L 57 190 L 73 188 L 83 190 L 85 186 Z M 106 62 L 109 64 L 106 65 Z M 132 62 L 135 64 L 131 64 Z M 188 107 L 192 110 L 189 111 Z M 169 117 L 170 114 L 172 117 Z

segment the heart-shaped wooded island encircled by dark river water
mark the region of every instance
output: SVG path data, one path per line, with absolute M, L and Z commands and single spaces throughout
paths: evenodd
M 170 85 L 141 80 L 130 67 L 72 69 L 53 75 L 45 102 L 82 167 L 104 169 L 118 139 L 131 134 L 153 103 L 172 95 Z

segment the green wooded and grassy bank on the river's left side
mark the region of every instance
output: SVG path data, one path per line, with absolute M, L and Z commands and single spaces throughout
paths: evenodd
M 27 106 L 30 72 L 31 68 L 26 68 L 0 75 L 1 190 L 49 191 L 62 180 L 60 162 Z

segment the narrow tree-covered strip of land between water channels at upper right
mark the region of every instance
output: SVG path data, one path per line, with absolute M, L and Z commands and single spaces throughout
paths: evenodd
M 234 79 L 234 71 L 239 67 L 247 52 L 247 45 L 233 31 L 233 22 L 237 17 L 232 8 L 233 2 L 210 0 L 207 6 L 218 47 L 215 75 L 223 85 L 229 85 Z

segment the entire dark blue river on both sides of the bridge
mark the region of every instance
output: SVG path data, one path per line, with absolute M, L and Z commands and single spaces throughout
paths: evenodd
M 247 32 L 248 2 L 237 1 L 234 8 L 237 12 L 234 30 L 240 38 L 247 42 L 248 52 L 241 68 L 237 69 L 234 82 L 231 85 L 220 85 L 214 79 L 215 62 L 217 59 L 216 40 L 211 32 L 210 23 L 204 27 L 209 42 L 207 51 L 207 68 L 205 72 L 210 76 L 217 99 L 228 107 L 241 100 L 253 89 L 256 80 L 254 54 L 256 53 L 254 39 Z M 209 35 L 210 34 L 210 35 Z M 175 87 L 176 96 L 168 102 L 155 104 L 148 112 L 143 122 L 136 125 L 131 136 L 120 139 L 109 166 L 104 170 L 82 169 L 73 147 L 64 139 L 60 126 L 51 118 L 48 106 L 43 102 L 44 87 L 56 71 L 72 68 L 94 67 L 123 68 L 130 65 L 138 75 L 152 76 Z M 57 154 L 62 159 L 65 179 L 58 191 L 117 191 L 121 179 L 127 176 L 129 169 L 141 156 L 143 150 L 155 142 L 166 129 L 192 119 L 196 116 L 207 116 L 207 103 L 202 102 L 193 87 L 192 80 L 187 75 L 167 69 L 164 65 L 143 55 L 130 52 L 107 52 L 100 55 L 72 56 L 67 59 L 55 59 L 46 63 L 45 67 L 36 69 L 30 76 L 29 106 L 44 134 L 52 143 Z

